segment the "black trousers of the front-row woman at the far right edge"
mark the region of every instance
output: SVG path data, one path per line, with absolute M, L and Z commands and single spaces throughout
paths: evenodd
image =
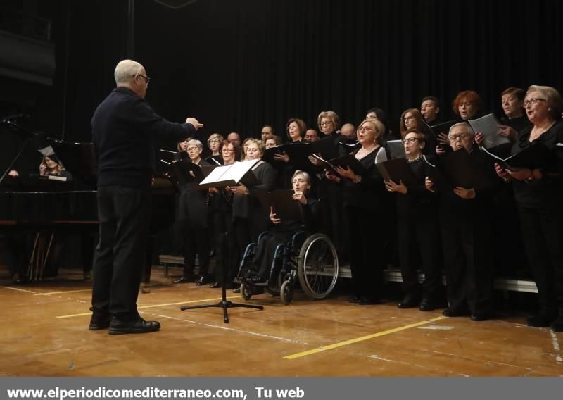
M 563 316 L 562 212 L 519 208 L 519 215 L 540 313 Z

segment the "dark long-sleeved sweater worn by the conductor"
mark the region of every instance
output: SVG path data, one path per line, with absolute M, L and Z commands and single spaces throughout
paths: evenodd
M 171 123 L 157 115 L 135 92 L 117 87 L 96 108 L 91 120 L 98 157 L 98 186 L 146 188 L 155 168 L 153 137 L 179 142 L 194 135 L 191 124 Z

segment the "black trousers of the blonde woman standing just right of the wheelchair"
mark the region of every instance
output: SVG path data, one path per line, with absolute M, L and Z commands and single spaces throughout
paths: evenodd
M 372 301 L 381 299 L 383 285 L 383 243 L 386 227 L 373 210 L 347 206 L 350 232 L 350 270 L 353 291 Z

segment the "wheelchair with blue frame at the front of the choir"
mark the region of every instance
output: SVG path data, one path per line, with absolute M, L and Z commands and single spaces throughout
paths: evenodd
M 307 236 L 304 231 L 296 232 L 291 242 L 276 247 L 266 282 L 246 281 L 244 277 L 264 235 L 272 233 L 262 232 L 257 243 L 248 244 L 240 263 L 237 280 L 241 282 L 243 299 L 249 300 L 253 294 L 263 293 L 265 289 L 272 296 L 280 296 L 284 304 L 290 304 L 297 280 L 311 299 L 324 299 L 330 294 L 339 277 L 339 258 L 331 239 L 322 233 Z

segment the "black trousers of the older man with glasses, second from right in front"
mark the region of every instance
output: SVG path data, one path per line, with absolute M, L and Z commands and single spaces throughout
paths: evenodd
M 441 234 L 448 304 L 455 312 L 486 314 L 491 308 L 493 266 L 491 226 L 479 213 L 441 214 Z

